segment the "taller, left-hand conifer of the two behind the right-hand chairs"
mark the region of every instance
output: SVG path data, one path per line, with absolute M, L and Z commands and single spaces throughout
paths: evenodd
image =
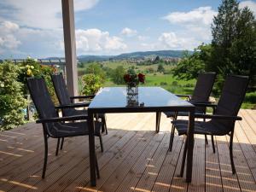
M 230 47 L 236 38 L 236 23 L 239 18 L 239 8 L 236 0 L 223 0 L 218 7 L 218 15 L 214 16 L 212 24 L 212 62 L 210 70 L 228 73 L 230 68 Z

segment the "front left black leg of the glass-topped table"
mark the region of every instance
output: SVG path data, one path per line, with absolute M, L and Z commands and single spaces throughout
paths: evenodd
M 94 138 L 94 121 L 93 113 L 88 110 L 88 125 L 89 125 L 89 149 L 90 149 L 90 185 L 96 186 L 96 152 Z

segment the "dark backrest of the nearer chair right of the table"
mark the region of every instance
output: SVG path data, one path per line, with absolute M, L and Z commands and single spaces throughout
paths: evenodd
M 236 116 L 246 95 L 248 81 L 246 76 L 229 75 L 225 79 L 215 114 Z M 223 125 L 226 131 L 231 131 L 235 125 L 235 120 L 212 119 L 212 122 Z

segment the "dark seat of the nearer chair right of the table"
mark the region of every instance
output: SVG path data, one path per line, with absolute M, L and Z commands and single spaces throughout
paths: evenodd
M 187 134 L 189 120 L 174 120 L 172 124 L 179 136 Z M 195 134 L 224 136 L 229 132 L 224 126 L 212 123 L 212 121 L 195 121 Z

